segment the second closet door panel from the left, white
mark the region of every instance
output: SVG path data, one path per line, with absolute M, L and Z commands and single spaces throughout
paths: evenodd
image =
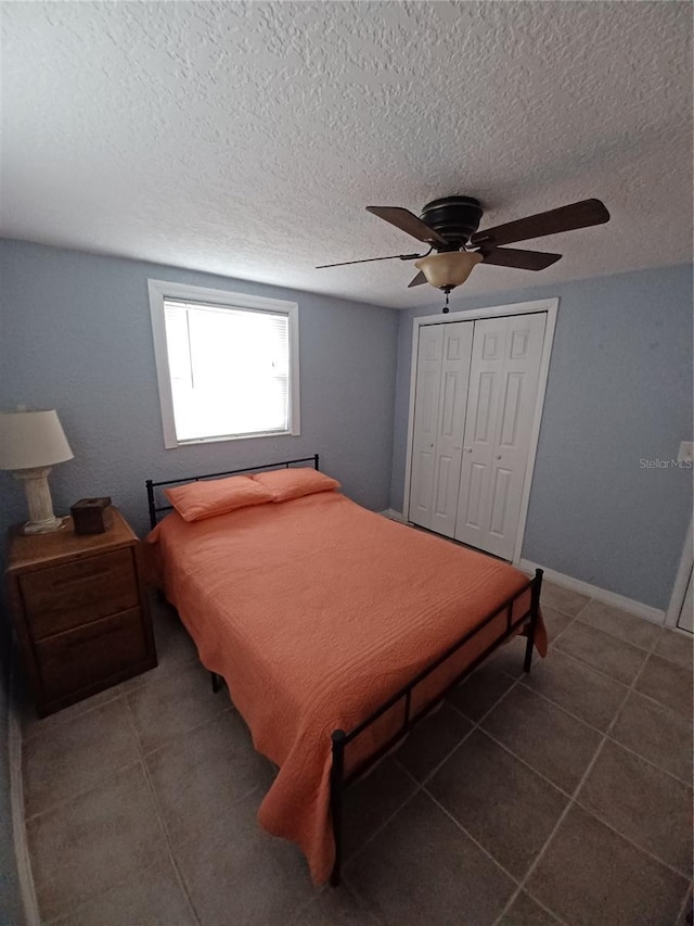
M 439 325 L 444 329 L 439 426 L 436 436 L 434 505 L 429 527 L 452 537 L 458 513 L 458 493 L 465 427 L 465 406 L 473 346 L 473 322 Z

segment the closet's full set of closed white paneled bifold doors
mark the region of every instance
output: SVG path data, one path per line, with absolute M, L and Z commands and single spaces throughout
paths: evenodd
M 422 324 L 408 519 L 512 559 L 547 312 Z

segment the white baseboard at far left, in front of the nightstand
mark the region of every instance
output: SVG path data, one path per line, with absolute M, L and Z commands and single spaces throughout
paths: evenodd
M 14 855 L 17 864 L 20 893 L 24 908 L 26 926 L 40 926 L 39 905 L 36 899 L 34 875 L 29 859 L 29 846 L 26 838 L 24 819 L 24 783 L 22 781 L 22 726 L 20 724 L 20 697 L 14 662 L 10 664 L 10 716 L 8 722 L 8 758 L 10 760 L 10 809 L 12 812 L 12 835 Z

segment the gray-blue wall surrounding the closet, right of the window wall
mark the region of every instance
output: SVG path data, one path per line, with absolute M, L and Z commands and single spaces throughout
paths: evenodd
M 476 272 L 481 272 L 477 270 Z M 455 296 L 455 293 L 453 293 Z M 560 297 L 523 556 L 667 608 L 692 511 L 692 470 L 644 469 L 692 440 L 692 268 L 461 300 L 451 310 Z M 402 313 L 390 505 L 402 510 L 412 319 Z

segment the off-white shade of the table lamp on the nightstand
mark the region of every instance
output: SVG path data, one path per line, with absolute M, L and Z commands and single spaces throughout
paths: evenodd
M 0 469 L 36 469 L 72 458 L 54 409 L 0 411 Z

